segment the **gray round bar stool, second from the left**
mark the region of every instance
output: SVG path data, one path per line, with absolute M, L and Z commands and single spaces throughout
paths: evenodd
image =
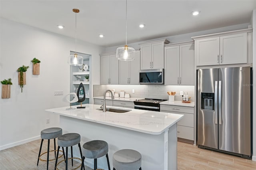
M 81 150 L 81 146 L 80 146 L 80 139 L 81 139 L 81 136 L 78 133 L 67 133 L 67 134 L 62 134 L 61 136 L 58 137 L 58 150 L 57 150 L 57 157 L 56 157 L 56 162 L 55 162 L 54 170 L 58 169 L 57 168 L 58 164 L 60 164 L 63 161 L 66 162 L 66 170 L 68 170 L 68 159 L 71 159 L 72 166 L 73 166 L 73 159 L 78 159 L 78 160 L 82 161 L 82 150 Z M 78 147 L 79 147 L 79 150 L 80 150 L 81 159 L 73 157 L 73 147 L 72 146 L 74 146 L 76 144 L 78 144 Z M 71 158 L 68 158 L 68 147 L 69 146 L 71 147 Z M 58 154 L 59 154 L 59 151 L 60 151 L 60 147 L 62 147 L 62 148 L 66 147 L 66 160 L 62 160 L 62 161 L 60 161 L 57 164 L 57 162 L 58 162 Z M 77 169 L 80 166 L 78 166 L 78 167 L 76 167 L 74 169 Z

